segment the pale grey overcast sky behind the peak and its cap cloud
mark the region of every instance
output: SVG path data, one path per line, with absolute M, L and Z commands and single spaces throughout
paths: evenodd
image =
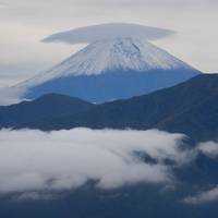
M 218 72 L 217 10 L 217 0 L 1 0 L 0 87 L 32 77 L 81 48 L 40 39 L 111 22 L 175 31 L 154 43 L 198 70 Z

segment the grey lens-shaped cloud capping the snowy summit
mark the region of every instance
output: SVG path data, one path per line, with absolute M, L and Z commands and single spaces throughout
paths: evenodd
M 137 24 L 109 23 L 94 26 L 85 26 L 57 33 L 43 39 L 44 43 L 92 44 L 97 40 L 119 37 L 153 40 L 174 34 L 173 31 L 143 26 Z

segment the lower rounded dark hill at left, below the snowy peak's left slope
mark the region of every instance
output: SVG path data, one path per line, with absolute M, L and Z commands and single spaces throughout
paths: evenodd
M 48 94 L 33 101 L 0 107 L 1 128 L 28 128 L 29 123 L 40 123 L 50 117 L 72 116 L 84 112 L 92 104 L 59 94 Z

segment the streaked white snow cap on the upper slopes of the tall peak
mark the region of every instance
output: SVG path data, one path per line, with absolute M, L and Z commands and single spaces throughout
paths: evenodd
M 93 43 L 27 84 L 38 84 L 70 75 L 93 75 L 112 71 L 191 69 L 167 51 L 133 38 L 105 39 Z M 26 85 L 27 85 L 26 84 Z M 23 84 L 24 85 L 24 84 Z

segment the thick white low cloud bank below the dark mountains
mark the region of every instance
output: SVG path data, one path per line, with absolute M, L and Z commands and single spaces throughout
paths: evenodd
M 88 180 L 100 189 L 171 180 L 170 158 L 186 161 L 181 134 L 74 129 L 0 131 L 0 192 L 75 189 Z M 146 162 L 141 154 L 155 159 Z

